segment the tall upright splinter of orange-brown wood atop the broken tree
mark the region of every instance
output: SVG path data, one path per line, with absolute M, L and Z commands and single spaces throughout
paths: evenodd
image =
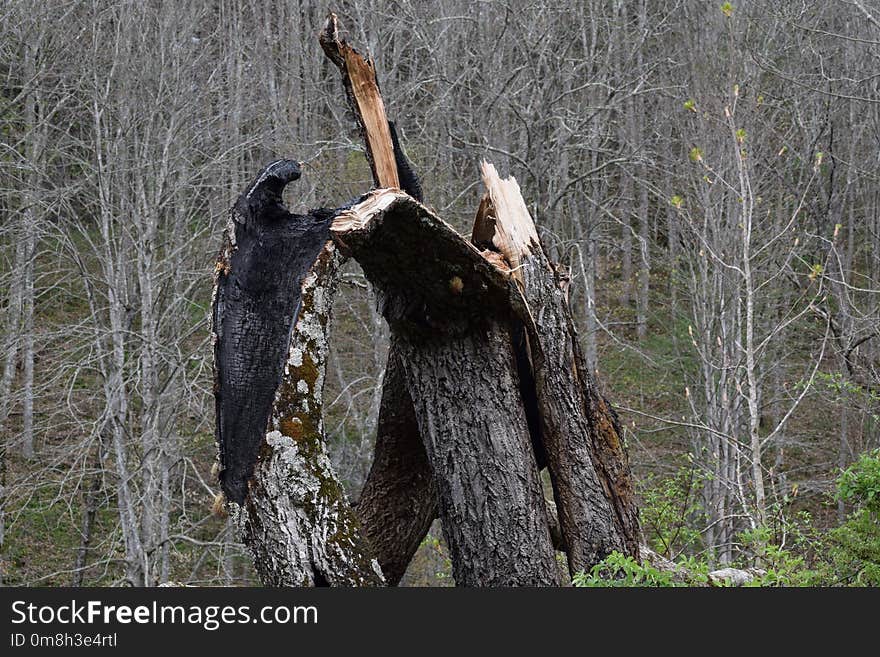
M 376 69 L 372 62 L 339 37 L 336 14 L 331 13 L 328 17 L 319 41 L 327 57 L 342 73 L 345 91 L 364 134 L 367 160 L 376 185 L 400 188 L 391 130 L 376 80 Z

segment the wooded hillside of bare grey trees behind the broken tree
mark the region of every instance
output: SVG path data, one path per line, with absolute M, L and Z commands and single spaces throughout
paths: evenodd
M 2 583 L 258 581 L 214 505 L 228 211 L 281 158 L 301 161 L 285 201 L 302 214 L 390 166 L 371 167 L 340 101 L 326 10 L 0 7 Z M 762 583 L 880 583 L 880 8 L 335 11 L 373 58 L 431 212 L 470 236 L 479 163 L 518 181 L 593 402 L 619 418 L 647 545 L 696 579 L 732 565 Z M 382 411 L 383 380 L 412 370 L 389 360 L 372 283 L 342 266 L 322 356 L 326 449 L 352 502 L 379 494 L 361 494 L 374 447 L 393 458 L 377 435 L 408 421 Z M 438 523 L 413 549 L 404 584 L 450 582 Z

